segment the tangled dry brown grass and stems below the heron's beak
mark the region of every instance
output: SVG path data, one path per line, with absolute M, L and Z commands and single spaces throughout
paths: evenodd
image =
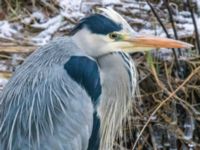
M 181 64 L 184 78 L 174 76 L 171 62 L 138 65 L 140 95 L 124 142 L 128 149 L 200 149 L 200 57 Z

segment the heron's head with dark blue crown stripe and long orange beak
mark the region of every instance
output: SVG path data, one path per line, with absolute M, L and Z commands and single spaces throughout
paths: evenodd
M 153 48 L 192 47 L 177 40 L 138 35 L 117 12 L 112 9 L 101 10 L 106 15 L 94 14 L 83 18 L 71 31 L 77 45 L 90 56 L 98 57 L 120 50 L 137 52 Z

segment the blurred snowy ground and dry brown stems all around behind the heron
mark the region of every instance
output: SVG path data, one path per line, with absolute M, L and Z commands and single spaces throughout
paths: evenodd
M 200 0 L 0 0 L 0 91 L 37 47 L 67 36 L 97 7 L 115 9 L 138 34 L 194 45 L 132 54 L 140 94 L 124 148 L 200 149 Z

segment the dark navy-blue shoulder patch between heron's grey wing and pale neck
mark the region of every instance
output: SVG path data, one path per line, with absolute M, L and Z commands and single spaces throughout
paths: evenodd
M 73 80 L 85 88 L 92 101 L 96 102 L 101 94 L 97 63 L 86 56 L 72 56 L 64 68 Z

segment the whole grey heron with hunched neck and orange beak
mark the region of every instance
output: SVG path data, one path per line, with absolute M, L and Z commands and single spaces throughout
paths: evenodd
M 115 11 L 33 52 L 0 95 L 0 150 L 110 150 L 137 86 L 129 52 L 188 48 L 137 36 Z

